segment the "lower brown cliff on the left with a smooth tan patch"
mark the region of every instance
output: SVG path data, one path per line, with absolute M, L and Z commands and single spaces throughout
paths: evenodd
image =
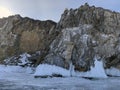
M 44 56 L 56 36 L 56 23 L 22 18 L 20 15 L 0 19 L 0 60 L 40 51 Z

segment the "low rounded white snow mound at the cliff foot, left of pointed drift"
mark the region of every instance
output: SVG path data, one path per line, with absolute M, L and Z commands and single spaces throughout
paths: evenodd
M 70 71 L 64 68 L 55 66 L 55 65 L 48 65 L 48 64 L 40 64 L 36 68 L 36 72 L 34 76 L 52 76 L 53 74 L 60 74 L 62 76 L 70 76 Z

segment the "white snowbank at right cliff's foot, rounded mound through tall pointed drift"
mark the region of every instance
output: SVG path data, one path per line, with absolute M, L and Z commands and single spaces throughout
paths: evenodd
M 73 65 L 72 69 L 66 70 L 55 65 L 40 64 L 36 68 L 34 76 L 52 76 L 53 74 L 60 74 L 62 76 L 107 78 L 102 61 L 95 60 L 95 67 L 91 67 L 91 70 L 88 72 L 75 72 L 73 69 Z

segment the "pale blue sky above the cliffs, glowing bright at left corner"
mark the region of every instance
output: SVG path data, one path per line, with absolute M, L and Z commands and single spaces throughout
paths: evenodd
M 20 14 L 38 20 L 58 22 L 65 8 L 78 8 L 84 3 L 120 12 L 120 0 L 0 0 L 0 18 Z

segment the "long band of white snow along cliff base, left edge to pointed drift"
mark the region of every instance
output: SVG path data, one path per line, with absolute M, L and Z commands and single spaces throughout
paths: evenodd
M 12 73 L 32 73 L 31 67 L 21 67 L 21 66 L 5 66 L 0 65 L 0 72 L 12 72 Z M 91 67 L 88 72 L 75 72 L 74 70 L 67 70 L 62 67 L 48 64 L 40 64 L 34 73 L 34 76 L 52 76 L 54 74 L 70 77 L 95 77 L 95 78 L 106 78 L 105 71 L 103 69 L 103 64 L 101 61 L 95 61 L 95 67 Z M 108 72 L 107 72 L 108 73 Z

